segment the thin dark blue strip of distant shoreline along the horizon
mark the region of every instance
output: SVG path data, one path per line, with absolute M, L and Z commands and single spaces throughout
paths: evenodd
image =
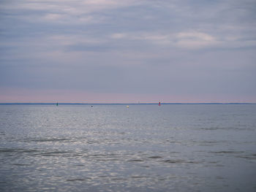
M 56 105 L 56 103 L 0 103 L 0 105 L 35 105 L 35 104 L 42 104 L 42 105 Z M 60 104 L 75 104 L 75 105 L 92 105 L 92 104 L 158 104 L 158 103 L 58 103 Z M 161 103 L 161 104 L 256 104 L 256 103 Z

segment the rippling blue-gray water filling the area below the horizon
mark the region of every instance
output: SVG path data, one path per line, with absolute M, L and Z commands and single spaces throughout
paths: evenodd
M 0 105 L 0 191 L 256 191 L 256 104 Z

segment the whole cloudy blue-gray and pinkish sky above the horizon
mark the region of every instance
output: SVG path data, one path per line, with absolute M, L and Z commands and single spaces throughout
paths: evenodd
M 255 0 L 0 0 L 0 102 L 256 102 Z

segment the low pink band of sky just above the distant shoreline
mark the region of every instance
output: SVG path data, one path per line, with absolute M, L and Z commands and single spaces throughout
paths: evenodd
M 255 98 L 227 94 L 176 95 L 176 94 L 132 94 L 90 93 L 67 90 L 5 89 L 0 92 L 0 102 L 79 102 L 79 103 L 204 103 L 204 102 L 256 102 Z

